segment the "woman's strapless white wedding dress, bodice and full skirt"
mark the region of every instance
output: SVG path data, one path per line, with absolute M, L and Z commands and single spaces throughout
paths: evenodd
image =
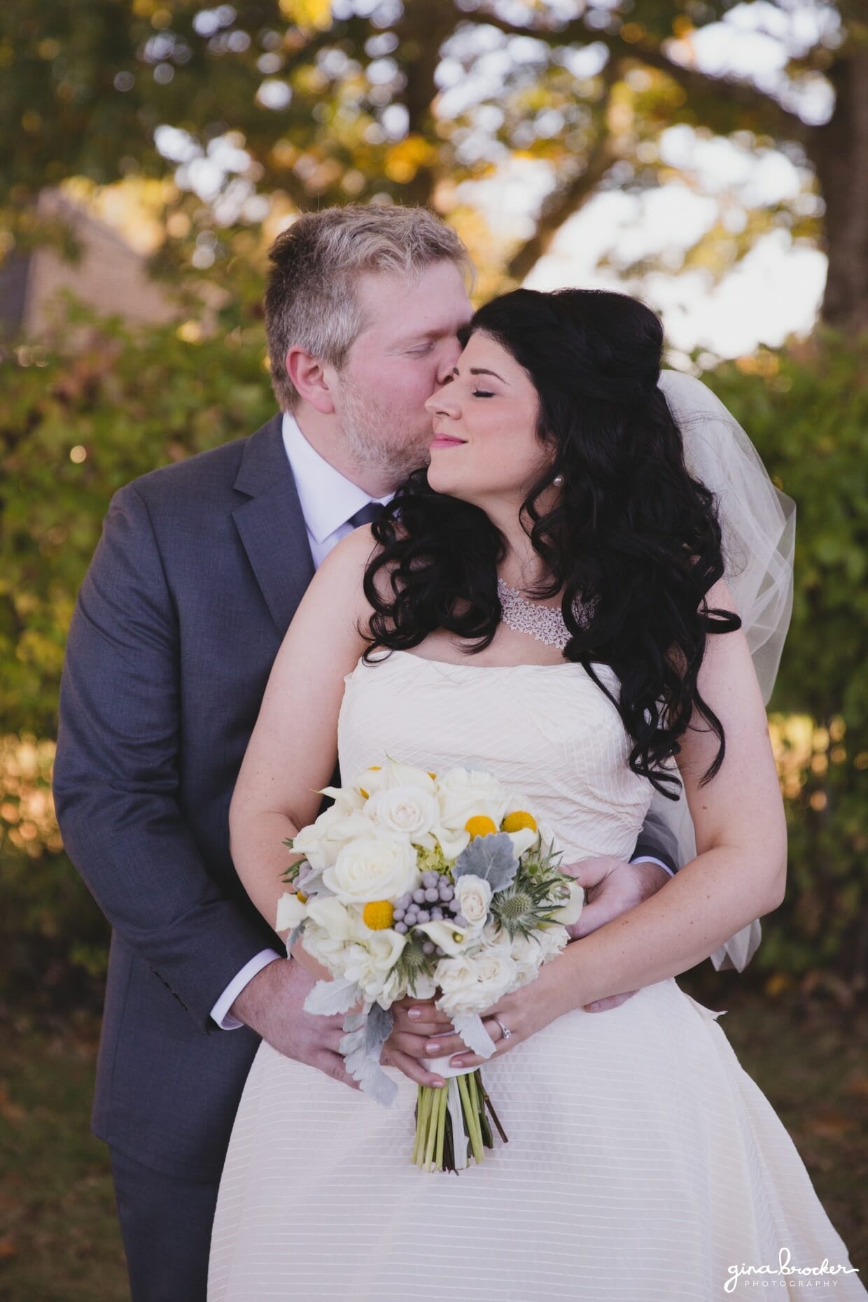
M 487 769 L 540 811 L 564 862 L 628 858 L 650 798 L 618 712 L 567 663 L 360 663 L 339 751 L 345 775 L 383 755 Z M 710 1302 L 799 1286 L 768 1275 L 782 1253 L 847 1268 L 804 1284 L 864 1299 L 719 1016 L 671 979 L 562 1017 L 484 1068 L 510 1142 L 459 1176 L 411 1164 L 405 1077 L 388 1069 L 400 1092 L 382 1108 L 263 1043 L 223 1170 L 209 1302 Z M 766 1275 L 725 1289 L 736 1266 Z

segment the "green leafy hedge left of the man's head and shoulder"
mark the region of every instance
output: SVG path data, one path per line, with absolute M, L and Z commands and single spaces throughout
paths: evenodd
M 274 413 L 258 324 L 185 333 L 73 310 L 63 342 L 0 362 L 0 732 L 53 736 L 65 631 L 112 493 Z

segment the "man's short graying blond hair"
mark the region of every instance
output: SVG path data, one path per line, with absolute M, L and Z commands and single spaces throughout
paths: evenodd
M 304 212 L 268 250 L 265 294 L 271 384 L 280 409 L 292 411 L 298 391 L 287 375 L 287 353 L 305 353 L 340 368 L 365 328 L 356 285 L 379 273 L 414 279 L 437 262 L 452 262 L 468 279 L 473 267 L 459 236 L 426 208 L 352 203 Z

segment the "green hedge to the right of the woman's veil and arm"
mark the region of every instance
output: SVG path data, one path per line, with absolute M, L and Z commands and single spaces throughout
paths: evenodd
M 705 376 L 798 505 L 795 602 L 772 711 L 782 725 L 790 879 L 753 963 L 868 961 L 868 337 L 821 333 L 802 353 L 761 354 Z M 762 374 L 765 372 L 765 374 Z

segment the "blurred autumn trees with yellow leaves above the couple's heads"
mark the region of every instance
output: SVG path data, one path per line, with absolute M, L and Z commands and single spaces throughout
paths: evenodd
M 868 324 L 868 16 L 861 0 L 756 0 L 742 22 L 778 57 L 734 74 L 727 0 L 8 0 L 0 178 L 14 238 L 46 185 L 169 182 L 162 263 L 201 270 L 255 243 L 263 216 L 349 199 L 431 204 L 491 283 L 520 281 L 601 187 L 678 165 L 682 124 L 802 171 L 786 202 L 723 211 L 723 272 L 770 227 L 821 240 L 826 322 Z M 719 44 L 697 59 L 704 33 Z M 730 29 L 730 34 L 732 29 Z M 734 57 L 735 56 L 735 57 Z M 541 164 L 523 238 L 491 241 L 467 182 Z M 689 177 L 688 177 L 689 180 Z M 691 182 L 692 184 L 692 182 Z M 820 220 L 822 219 L 822 220 Z M 253 236 L 240 243 L 233 236 Z M 190 242 L 193 249 L 190 249 Z M 498 243 L 500 246 L 498 247 Z M 709 240 L 692 254 L 708 256 Z M 689 264 L 689 263 L 688 263 Z

